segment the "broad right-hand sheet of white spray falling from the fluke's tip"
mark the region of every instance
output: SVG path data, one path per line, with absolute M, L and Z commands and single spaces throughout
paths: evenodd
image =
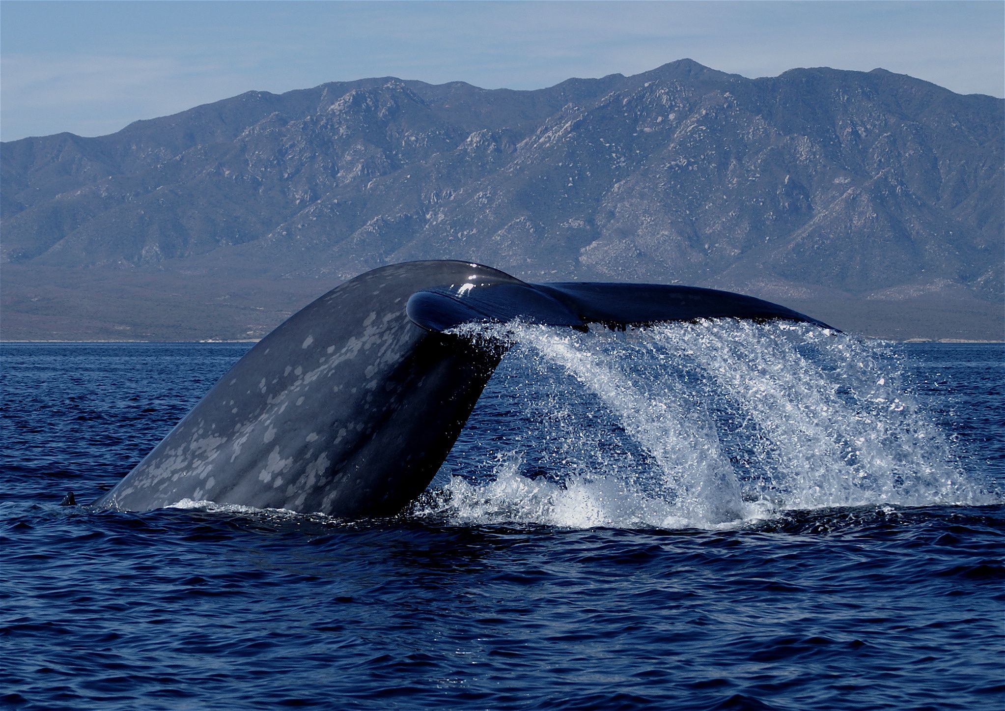
M 786 508 L 971 503 L 943 433 L 883 344 L 801 325 L 664 326 L 746 418 L 753 477 Z

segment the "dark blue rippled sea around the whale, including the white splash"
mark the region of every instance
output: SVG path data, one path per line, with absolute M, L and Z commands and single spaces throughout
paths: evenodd
M 518 334 L 361 522 L 61 507 L 247 346 L 3 345 L 0 700 L 1002 708 L 1003 347 L 695 329 Z

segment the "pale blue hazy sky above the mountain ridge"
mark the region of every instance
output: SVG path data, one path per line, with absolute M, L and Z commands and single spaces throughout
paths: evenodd
M 257 90 L 397 76 L 540 88 L 689 57 L 882 67 L 1005 95 L 1005 2 L 0 1 L 0 138 L 99 136 Z

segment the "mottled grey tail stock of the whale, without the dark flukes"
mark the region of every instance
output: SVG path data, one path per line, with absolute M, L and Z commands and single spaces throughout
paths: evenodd
M 417 268 L 362 275 L 293 315 L 95 504 L 398 511 L 435 475 L 498 361 L 417 326 L 405 313 L 408 298 L 472 276 L 513 280 L 463 262 Z

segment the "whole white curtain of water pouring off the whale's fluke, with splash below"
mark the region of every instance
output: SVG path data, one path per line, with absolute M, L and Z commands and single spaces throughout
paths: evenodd
M 520 367 L 500 368 L 505 386 L 483 399 L 520 398 L 501 406 L 520 423 L 501 442 L 465 430 L 418 516 L 722 528 L 793 509 L 998 502 L 964 474 L 887 344 L 735 320 L 457 332 L 510 346 Z

